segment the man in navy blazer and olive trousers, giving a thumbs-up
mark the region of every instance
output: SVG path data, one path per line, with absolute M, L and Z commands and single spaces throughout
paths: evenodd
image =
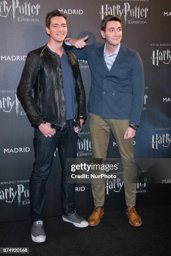
M 86 59 L 91 72 L 89 92 L 89 128 L 94 158 L 105 159 L 112 131 L 123 162 L 126 213 L 133 226 L 140 226 L 141 219 L 135 210 L 136 177 L 133 138 L 140 123 L 144 97 L 143 64 L 138 52 L 120 43 L 122 23 L 120 18 L 107 15 L 101 23 L 101 36 L 105 44 L 86 45 L 85 38 L 66 39 L 75 48 L 78 59 Z M 76 49 L 77 48 L 77 49 Z M 104 216 L 105 184 L 92 182 L 94 211 L 89 225 L 100 223 Z

